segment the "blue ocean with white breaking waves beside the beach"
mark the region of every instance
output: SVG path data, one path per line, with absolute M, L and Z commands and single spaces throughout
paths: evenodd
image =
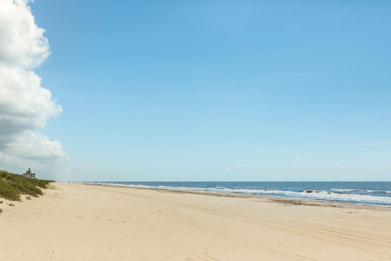
M 204 190 L 241 194 L 279 196 L 285 198 L 318 199 L 350 203 L 391 206 L 391 181 L 183 181 L 183 182 L 83 182 L 124 187 Z

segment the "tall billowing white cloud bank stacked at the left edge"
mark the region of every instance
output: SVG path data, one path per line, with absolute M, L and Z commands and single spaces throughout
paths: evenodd
M 38 132 L 63 109 L 32 71 L 50 48 L 29 2 L 0 1 L 0 167 L 23 170 L 68 160 L 61 143 Z

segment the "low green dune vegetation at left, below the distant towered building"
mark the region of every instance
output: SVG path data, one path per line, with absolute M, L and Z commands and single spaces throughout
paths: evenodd
M 33 197 L 42 196 L 41 188 L 47 188 L 47 185 L 53 180 L 32 179 L 22 175 L 9 173 L 0 170 L 0 198 L 11 201 L 21 201 L 22 194 Z

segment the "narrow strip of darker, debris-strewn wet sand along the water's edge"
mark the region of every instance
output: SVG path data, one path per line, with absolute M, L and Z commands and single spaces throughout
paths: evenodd
M 257 195 L 257 194 L 246 194 L 246 193 L 239 193 L 239 192 L 219 192 L 219 191 L 208 191 L 208 190 L 192 190 L 192 189 L 175 189 L 175 188 L 151 188 L 151 187 L 137 187 L 137 186 L 128 186 L 128 185 L 121 185 L 121 184 L 98 184 L 98 183 L 88 183 L 88 182 L 71 182 L 73 184 L 82 184 L 82 185 L 92 185 L 92 186 L 105 186 L 105 187 L 118 187 L 118 188 L 136 188 L 136 189 L 150 189 L 150 190 L 163 190 L 167 192 L 174 192 L 174 193 L 190 193 L 190 194 L 205 194 L 205 195 L 213 195 L 213 196 L 221 196 L 221 197 L 231 197 L 231 198 L 267 198 L 271 201 L 276 200 L 282 200 L 284 199 L 285 202 L 288 204 L 293 205 L 300 205 L 300 201 L 308 201 L 305 204 L 310 205 L 330 205 L 328 203 L 338 205 L 338 207 L 341 207 L 342 205 L 362 205 L 362 206 L 376 206 L 376 207 L 384 207 L 391 210 L 391 205 L 382 205 L 382 204 L 367 204 L 367 203 L 355 203 L 355 202 L 348 202 L 348 201 L 333 201 L 332 199 L 307 199 L 307 198 L 293 198 L 293 197 L 284 197 L 284 196 L 276 196 L 276 195 Z M 289 201 L 289 202 L 288 202 Z M 321 203 L 319 203 L 321 202 Z M 316 204 L 317 203 L 317 204 Z M 304 205 L 304 204 L 303 204 Z M 333 206 L 330 206 L 333 207 Z

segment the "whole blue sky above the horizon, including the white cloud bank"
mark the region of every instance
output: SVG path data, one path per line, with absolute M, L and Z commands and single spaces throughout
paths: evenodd
M 0 169 L 390 181 L 388 1 L 3 0 Z

